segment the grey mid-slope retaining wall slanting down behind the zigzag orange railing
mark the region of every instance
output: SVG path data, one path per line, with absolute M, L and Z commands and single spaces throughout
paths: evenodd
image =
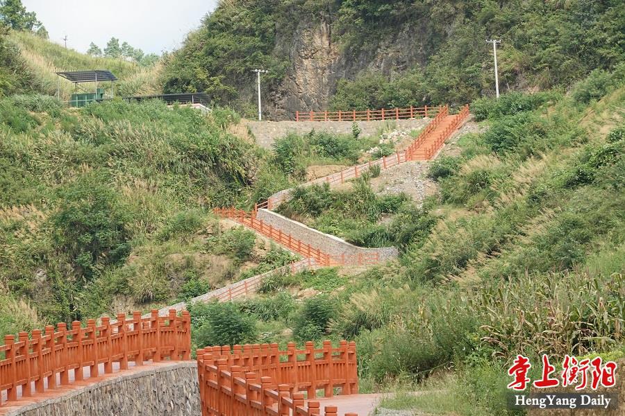
M 324 234 L 302 223 L 276 214 L 274 211 L 269 211 L 268 209 L 259 209 L 256 217 L 259 220 L 263 220 L 266 224 L 273 225 L 277 229 L 280 229 L 283 233 L 291 234 L 294 239 L 299 239 L 303 241 L 303 243 L 310 244 L 314 248 L 318 248 L 322 250 L 322 252 L 333 256 L 340 256 L 341 254 L 356 256 L 357 254 L 377 252 L 380 256 L 380 261 L 385 261 L 387 259 L 394 259 L 398 255 L 397 248 L 361 248 L 347 243 L 347 241 L 339 239 L 337 236 Z

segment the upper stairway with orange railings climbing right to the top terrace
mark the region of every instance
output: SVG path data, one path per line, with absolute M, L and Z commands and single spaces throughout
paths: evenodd
M 359 164 L 356 166 L 351 166 L 346 168 L 340 172 L 333 173 L 331 175 L 325 177 L 319 177 L 318 179 L 312 180 L 310 182 L 306 182 L 305 184 L 301 184 L 301 187 L 306 187 L 312 184 L 342 184 L 343 182 L 347 182 L 356 177 L 360 177 L 363 173 L 366 173 L 373 166 L 380 166 L 381 170 L 385 170 L 387 168 L 391 168 L 397 164 L 401 164 L 403 162 L 408 162 L 409 160 L 426 160 L 430 159 L 438 149 L 442 146 L 445 140 L 447 140 L 451 134 L 458 128 L 458 125 L 464 121 L 464 119 L 469 115 L 469 106 L 465 105 L 462 107 L 460 112 L 453 117 L 453 119 L 449 120 L 449 107 L 444 105 L 442 107 L 438 107 L 436 111 L 436 116 L 434 119 L 419 133 L 419 136 L 412 141 L 410 146 L 406 148 L 406 150 L 400 150 L 397 153 L 394 153 L 389 156 L 381 157 L 380 159 L 369 161 L 365 164 Z M 444 130 L 437 132 L 437 137 L 435 140 L 431 141 L 431 135 L 435 134 L 435 130 L 443 123 L 449 122 L 447 128 Z M 289 198 L 287 191 L 281 191 L 275 193 L 273 196 L 267 198 L 266 201 L 260 202 L 256 205 L 255 209 L 266 208 L 266 209 L 274 209 L 278 207 L 282 202 Z

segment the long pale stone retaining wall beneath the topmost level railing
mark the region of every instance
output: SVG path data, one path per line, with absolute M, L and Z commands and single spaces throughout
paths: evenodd
M 392 123 L 399 130 L 421 129 L 429 123 L 430 119 L 409 119 L 409 120 L 386 120 L 386 121 L 357 121 L 360 128 L 360 135 L 376 135 L 378 130 L 385 124 Z M 271 148 L 272 144 L 279 137 L 284 137 L 290 132 L 300 135 L 310 132 L 310 130 L 351 135 L 352 121 L 246 121 L 254 137 L 256 144 L 263 148 Z

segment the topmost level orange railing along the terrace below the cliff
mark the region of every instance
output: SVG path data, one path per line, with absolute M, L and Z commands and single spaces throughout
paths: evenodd
M 382 108 L 381 110 L 296 111 L 295 121 L 375 121 L 431 117 L 440 107 Z

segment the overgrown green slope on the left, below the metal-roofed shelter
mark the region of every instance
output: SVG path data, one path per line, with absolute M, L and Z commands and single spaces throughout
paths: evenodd
M 30 300 L 44 320 L 72 320 L 167 304 L 282 266 L 288 255 L 251 232 L 219 229 L 210 214 L 250 200 L 267 175 L 263 152 L 226 131 L 236 119 L 160 101 L 78 110 L 49 96 L 3 98 L 6 302 Z

